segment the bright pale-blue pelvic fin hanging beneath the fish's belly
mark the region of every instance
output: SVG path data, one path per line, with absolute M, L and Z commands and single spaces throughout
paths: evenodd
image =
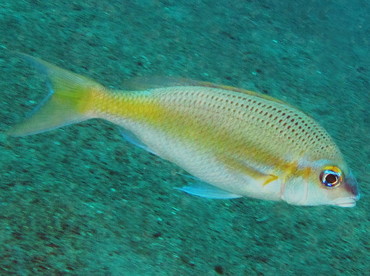
M 242 197 L 241 195 L 230 193 L 228 191 L 222 190 L 220 188 L 217 188 L 213 185 L 201 181 L 191 183 L 187 186 L 176 189 L 191 195 L 213 199 L 231 199 Z

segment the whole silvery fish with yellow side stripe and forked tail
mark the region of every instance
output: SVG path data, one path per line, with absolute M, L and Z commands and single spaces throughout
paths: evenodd
M 41 59 L 49 93 L 9 129 L 27 136 L 89 119 L 121 129 L 132 144 L 185 170 L 190 195 L 353 207 L 358 183 L 328 132 L 311 116 L 265 94 L 201 81 L 143 80 L 113 90 Z M 150 79 L 150 78 L 149 78 Z

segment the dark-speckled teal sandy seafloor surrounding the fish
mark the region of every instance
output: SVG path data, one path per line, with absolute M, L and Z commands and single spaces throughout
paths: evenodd
M 370 2 L 0 1 L 0 275 L 370 275 Z M 5 131 L 47 93 L 9 50 L 111 88 L 181 76 L 296 105 L 334 137 L 355 208 L 209 200 L 91 120 Z

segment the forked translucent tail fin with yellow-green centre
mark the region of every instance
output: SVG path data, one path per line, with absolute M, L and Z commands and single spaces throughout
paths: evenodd
M 9 135 L 36 134 L 90 118 L 89 98 L 93 91 L 103 91 L 102 85 L 46 61 L 28 55 L 22 56 L 47 75 L 49 95 L 29 118 L 11 128 Z

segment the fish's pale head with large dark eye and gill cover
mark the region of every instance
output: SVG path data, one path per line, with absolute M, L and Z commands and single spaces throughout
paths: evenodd
M 294 205 L 353 207 L 360 199 L 356 178 L 345 163 L 321 160 L 285 185 L 283 199 Z

